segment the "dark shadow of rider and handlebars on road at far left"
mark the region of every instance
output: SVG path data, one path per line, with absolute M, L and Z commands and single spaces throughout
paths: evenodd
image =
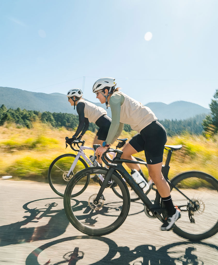
M 48 199 L 57 198 L 46 198 L 40 200 Z M 30 213 L 29 216 L 25 215 L 23 217 L 25 220 L 0 227 L 0 246 L 51 239 L 62 235 L 66 231 L 69 221 L 66 218 L 64 209 L 55 210 L 55 207 L 58 205 L 56 202 L 46 204 L 46 207 L 40 209 L 37 209 L 37 207 L 29 209 L 27 207 L 29 203 L 31 202 L 28 202 L 23 206 L 23 208 L 27 210 L 25 213 Z M 22 227 L 29 223 L 38 223 L 38 220 L 44 217 L 50 217 L 49 222 L 46 225 L 29 228 Z

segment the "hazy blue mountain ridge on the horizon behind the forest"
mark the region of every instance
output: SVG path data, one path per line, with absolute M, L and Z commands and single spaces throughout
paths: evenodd
M 100 102 L 92 103 L 106 109 L 105 104 L 101 104 Z M 77 114 L 76 109 L 74 110 L 70 103 L 67 102 L 66 95 L 61 93 L 46 94 L 11 87 L 0 87 L 0 107 L 2 104 L 12 109 L 21 108 L 40 112 L 49 111 L 52 113 Z M 151 102 L 147 103 L 146 106 L 155 113 L 158 120 L 184 120 L 198 114 L 210 113 L 210 109 L 187 101 L 175 101 L 170 104 Z M 110 107 L 107 109 L 107 113 L 111 117 Z

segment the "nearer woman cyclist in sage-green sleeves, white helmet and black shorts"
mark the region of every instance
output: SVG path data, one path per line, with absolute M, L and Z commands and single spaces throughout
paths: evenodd
M 115 79 L 111 77 L 100 78 L 93 85 L 93 92 L 97 95 L 96 98 L 102 104 L 106 103 L 108 105 L 109 103 L 112 114 L 112 122 L 106 141 L 96 149 L 96 153 L 100 157 L 102 156 L 105 149 L 110 147 L 113 138 L 118 137 L 122 132 L 124 123 L 129 124 L 133 130 L 138 132 L 122 149 L 122 158 L 136 161 L 132 154 L 144 150 L 148 174 L 155 183 L 167 209 L 168 217 L 162 224 L 161 230 L 169 230 L 175 221 L 180 218 L 180 212 L 174 208 L 169 184 L 161 172 L 163 150 L 167 141 L 166 130 L 157 121 L 157 117 L 151 109 L 120 92 L 119 88 L 115 88 L 115 86 Z M 127 164 L 127 166 L 130 169 L 138 170 L 138 174 L 143 176 L 139 164 Z

